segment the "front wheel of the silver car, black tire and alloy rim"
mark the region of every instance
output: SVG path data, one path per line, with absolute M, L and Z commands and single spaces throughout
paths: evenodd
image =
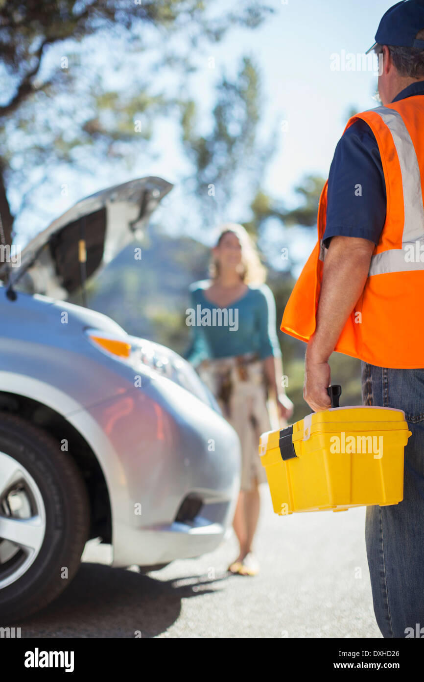
M 69 585 L 89 530 L 71 456 L 48 432 L 0 413 L 0 625 L 41 610 Z

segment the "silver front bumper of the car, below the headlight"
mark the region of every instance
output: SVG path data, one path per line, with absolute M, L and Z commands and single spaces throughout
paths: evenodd
M 221 415 L 163 377 L 89 413 L 103 440 L 92 447 L 110 495 L 113 565 L 169 563 L 221 544 L 240 489 L 240 443 Z M 180 518 L 188 497 L 199 509 Z

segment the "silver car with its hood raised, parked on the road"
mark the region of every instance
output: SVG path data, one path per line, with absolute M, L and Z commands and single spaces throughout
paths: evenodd
M 59 595 L 88 539 L 147 571 L 231 532 L 239 441 L 193 368 L 65 301 L 171 189 L 148 177 L 98 192 L 1 265 L 3 623 Z

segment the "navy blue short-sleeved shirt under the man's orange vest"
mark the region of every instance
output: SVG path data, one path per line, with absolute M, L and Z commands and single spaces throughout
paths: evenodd
M 424 95 L 424 80 L 408 85 L 393 102 Z M 378 243 L 386 220 L 386 183 L 377 140 L 358 119 L 340 138 L 328 178 L 324 245 L 331 237 L 362 237 Z

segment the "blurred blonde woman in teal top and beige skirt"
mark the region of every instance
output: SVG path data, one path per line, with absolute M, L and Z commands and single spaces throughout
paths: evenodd
M 252 541 L 259 518 L 258 486 L 266 481 L 259 436 L 272 428 L 267 392 L 282 419 L 291 416 L 293 404 L 280 388 L 282 363 L 274 296 L 264 284 L 265 268 L 244 227 L 225 224 L 212 256 L 212 277 L 191 285 L 191 303 L 194 310 L 198 305 L 202 311 L 227 308 L 228 323 L 191 327 L 187 359 L 212 389 L 240 438 L 242 479 L 233 520 L 240 552 L 229 571 L 255 575 L 259 564 Z M 213 314 L 210 318 L 214 319 Z

